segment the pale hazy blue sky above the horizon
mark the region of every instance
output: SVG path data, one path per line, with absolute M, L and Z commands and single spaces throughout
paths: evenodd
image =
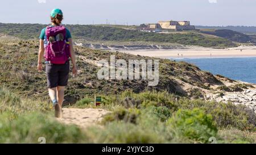
M 256 0 L 8 0 L 1 1 L 0 23 L 46 24 L 56 7 L 63 10 L 65 24 L 172 19 L 204 26 L 256 26 Z

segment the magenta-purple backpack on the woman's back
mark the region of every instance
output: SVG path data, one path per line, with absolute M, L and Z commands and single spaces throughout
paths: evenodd
M 64 26 L 46 28 L 47 45 L 44 58 L 51 64 L 65 64 L 70 57 L 69 43 L 66 41 Z

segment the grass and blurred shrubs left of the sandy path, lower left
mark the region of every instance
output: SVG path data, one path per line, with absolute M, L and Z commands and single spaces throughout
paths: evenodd
M 50 104 L 30 100 L 0 88 L 0 143 L 79 143 L 82 131 L 74 125 L 63 125 L 53 120 Z

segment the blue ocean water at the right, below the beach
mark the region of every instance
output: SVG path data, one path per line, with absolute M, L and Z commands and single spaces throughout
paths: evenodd
M 256 83 L 256 57 L 184 58 L 171 60 L 189 62 L 199 66 L 201 70 L 207 70 L 213 74 L 221 74 L 232 79 Z

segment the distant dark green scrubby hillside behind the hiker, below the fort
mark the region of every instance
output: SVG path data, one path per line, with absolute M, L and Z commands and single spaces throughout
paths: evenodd
M 35 39 L 38 38 L 43 27 L 46 27 L 46 25 L 0 23 L 0 33 L 18 36 L 23 39 Z M 237 44 L 227 39 L 205 36 L 197 32 L 159 34 L 105 26 L 67 25 L 67 27 L 72 31 L 73 37 L 90 41 L 152 41 L 216 48 L 237 46 Z

